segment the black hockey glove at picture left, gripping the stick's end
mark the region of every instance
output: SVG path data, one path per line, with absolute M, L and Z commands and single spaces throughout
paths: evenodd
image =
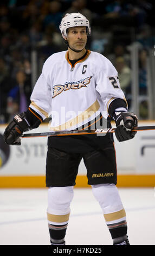
M 10 145 L 20 145 L 22 133 L 29 130 L 31 127 L 25 117 L 25 112 L 17 114 L 4 131 L 4 141 Z

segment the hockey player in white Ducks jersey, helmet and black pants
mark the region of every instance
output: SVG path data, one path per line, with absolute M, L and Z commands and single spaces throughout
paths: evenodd
M 117 126 L 118 141 L 132 139 L 135 132 L 131 130 L 138 121 L 134 113 L 127 111 L 117 70 L 102 54 L 86 50 L 87 36 L 91 35 L 89 21 L 80 13 L 66 14 L 60 31 L 68 50 L 46 60 L 28 110 L 16 115 L 5 129 L 5 142 L 16 144 L 23 132 L 38 127 L 49 114 L 53 131 L 111 127 L 111 118 Z M 109 133 L 48 137 L 46 186 L 51 245 L 65 245 L 73 187 L 82 158 L 113 245 L 130 245 L 126 213 L 116 187 L 113 136 Z

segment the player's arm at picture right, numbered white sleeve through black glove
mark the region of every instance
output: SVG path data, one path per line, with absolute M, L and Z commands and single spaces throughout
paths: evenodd
M 138 125 L 138 118 L 134 113 L 128 112 L 127 101 L 121 90 L 118 72 L 109 60 L 105 60 L 105 66 L 98 72 L 96 78 L 96 90 L 101 95 L 106 111 L 115 120 L 117 129 L 115 136 L 119 142 L 127 141 L 135 136 L 131 131 Z

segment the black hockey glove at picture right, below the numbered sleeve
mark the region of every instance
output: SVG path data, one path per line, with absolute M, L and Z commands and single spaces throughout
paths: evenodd
M 115 123 L 117 126 L 115 129 L 115 136 L 119 142 L 134 138 L 137 132 L 131 130 L 134 126 L 138 125 L 138 118 L 134 113 L 121 112 L 115 118 Z

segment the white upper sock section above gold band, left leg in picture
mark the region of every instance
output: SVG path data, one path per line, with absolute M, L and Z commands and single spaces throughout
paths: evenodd
M 73 199 L 73 186 L 50 187 L 48 189 L 47 212 L 53 215 L 66 215 L 70 212 Z

